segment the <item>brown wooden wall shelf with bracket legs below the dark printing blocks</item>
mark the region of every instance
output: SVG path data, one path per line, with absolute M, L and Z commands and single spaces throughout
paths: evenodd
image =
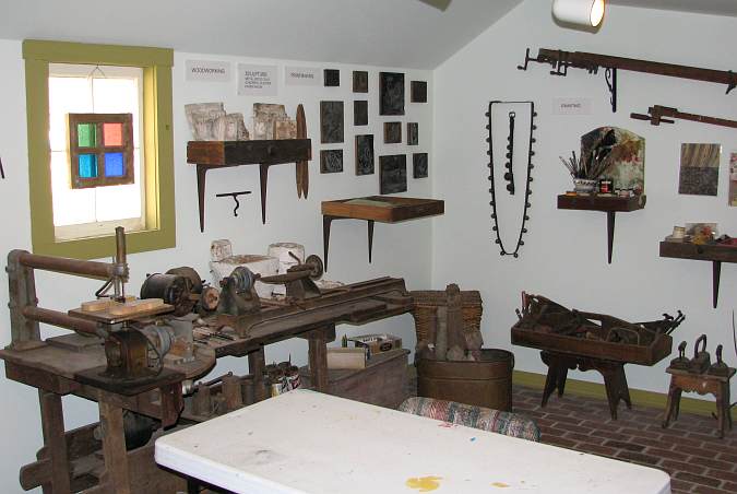
M 364 198 L 322 201 L 322 242 L 328 271 L 330 225 L 333 220 L 366 220 L 368 222 L 369 262 L 373 249 L 373 223 L 396 223 L 417 217 L 443 214 L 445 202 L 438 199 L 370 196 Z

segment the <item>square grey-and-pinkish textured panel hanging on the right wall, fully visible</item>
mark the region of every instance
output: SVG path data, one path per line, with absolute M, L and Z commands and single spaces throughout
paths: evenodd
M 678 193 L 716 196 L 721 154 L 720 144 L 681 144 Z

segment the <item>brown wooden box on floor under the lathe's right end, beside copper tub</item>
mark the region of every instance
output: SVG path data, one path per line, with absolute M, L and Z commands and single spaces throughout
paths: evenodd
M 379 407 L 397 408 L 407 392 L 408 350 L 390 350 L 373 355 L 362 369 L 328 370 L 328 392 Z M 299 369 L 302 385 L 310 387 L 308 367 Z

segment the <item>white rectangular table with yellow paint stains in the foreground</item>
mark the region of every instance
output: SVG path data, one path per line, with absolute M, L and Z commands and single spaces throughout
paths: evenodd
M 670 493 L 659 470 L 307 390 L 163 436 L 156 461 L 248 494 Z

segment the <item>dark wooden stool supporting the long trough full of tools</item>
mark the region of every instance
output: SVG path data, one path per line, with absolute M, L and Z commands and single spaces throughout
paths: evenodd
M 630 389 L 627 386 L 627 376 L 625 376 L 625 363 L 547 351 L 540 352 L 540 358 L 548 366 L 548 375 L 545 379 L 543 403 L 540 407 L 547 404 L 548 398 L 550 398 L 556 388 L 558 388 L 558 396 L 563 396 L 568 370 L 573 370 L 578 367 L 580 370 L 598 370 L 602 373 L 604 386 L 606 387 L 606 398 L 609 402 L 609 413 L 613 420 L 617 420 L 619 400 L 623 400 L 628 409 L 632 408 Z

